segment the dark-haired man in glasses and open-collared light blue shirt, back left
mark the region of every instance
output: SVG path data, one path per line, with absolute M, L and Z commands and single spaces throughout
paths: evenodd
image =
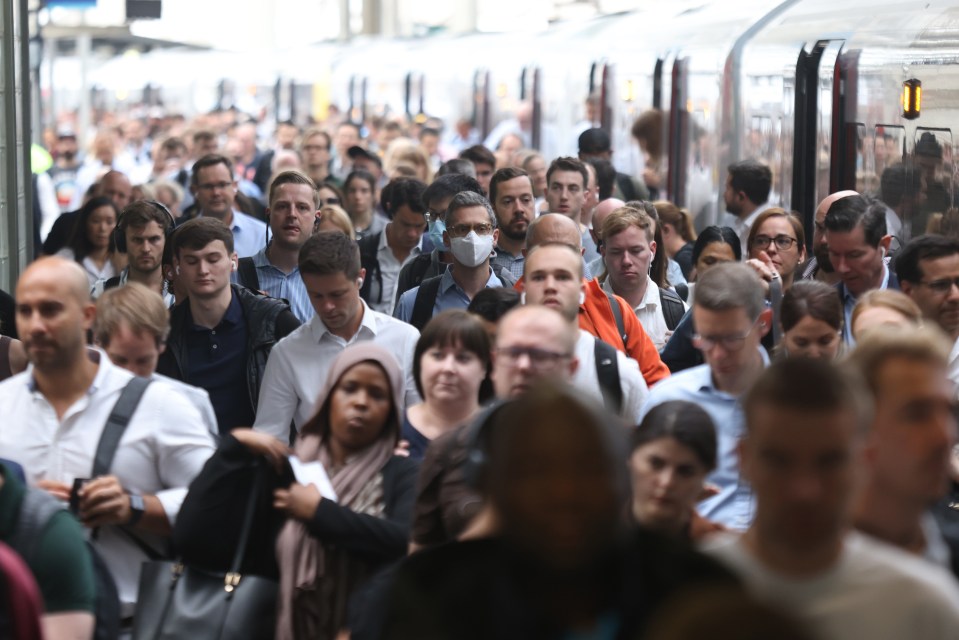
M 236 191 L 233 163 L 226 156 L 210 154 L 193 165 L 190 192 L 196 198 L 198 217 L 225 224 L 233 232 L 236 255 L 246 258 L 266 246 L 266 223 L 233 208 Z

